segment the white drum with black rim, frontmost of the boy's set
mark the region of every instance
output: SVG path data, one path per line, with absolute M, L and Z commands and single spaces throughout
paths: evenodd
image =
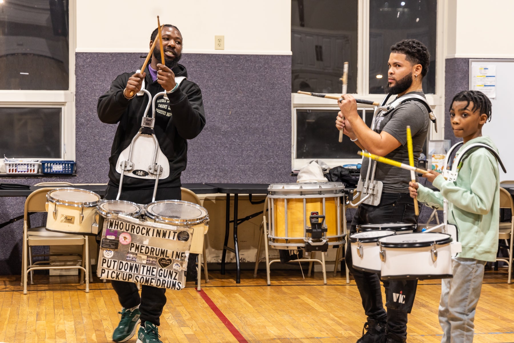
M 414 232 L 378 240 L 381 278 L 444 279 L 453 277 L 449 234 Z

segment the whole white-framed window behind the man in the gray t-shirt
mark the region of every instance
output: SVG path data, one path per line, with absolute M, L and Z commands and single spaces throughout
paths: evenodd
M 291 1 L 291 166 L 299 169 L 312 159 L 331 167 L 358 163 L 358 147 L 347 137 L 338 142 L 337 101 L 297 94 L 297 91 L 341 92 L 343 63 L 350 63 L 347 92 L 380 102 L 387 82 L 390 47 L 402 39 L 423 42 L 431 55 L 423 88 L 438 133 L 430 125 L 429 139 L 444 138 L 443 6 L 437 0 L 292 0 Z M 439 5 L 439 6 L 437 6 Z M 382 76 L 379 78 L 377 76 Z M 373 106 L 359 105 L 368 124 Z M 332 132 L 334 135 L 332 135 Z

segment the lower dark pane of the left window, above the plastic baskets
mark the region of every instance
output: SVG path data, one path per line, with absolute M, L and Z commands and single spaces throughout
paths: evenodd
M 61 158 L 61 108 L 0 107 L 0 156 Z

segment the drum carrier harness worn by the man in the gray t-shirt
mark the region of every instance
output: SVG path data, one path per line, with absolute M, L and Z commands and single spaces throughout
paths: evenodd
M 380 103 L 380 106 L 374 107 L 374 113 L 373 113 L 373 119 L 371 124 L 371 130 L 375 131 L 376 127 L 376 118 L 377 117 L 384 117 L 387 116 L 391 111 L 396 109 L 399 105 L 406 101 L 415 100 L 419 101 L 423 105 L 425 105 L 428 115 L 430 117 L 430 120 L 434 123 L 435 132 L 437 132 L 437 118 L 435 117 L 435 114 L 433 113 L 430 104 L 427 102 L 427 99 L 425 99 L 423 96 L 420 96 L 419 94 L 406 94 L 399 98 L 396 98 L 393 102 L 390 104 L 386 104 L 389 97 L 391 97 L 392 94 L 388 94 Z M 368 165 L 368 172 L 366 173 L 366 178 L 363 180 L 359 176 L 359 182 L 357 184 L 357 189 L 355 190 L 357 193 L 353 195 L 354 198 L 358 197 L 360 195 L 360 200 L 356 203 L 350 202 L 352 206 L 358 206 L 362 203 L 377 206 L 380 204 L 380 198 L 382 197 L 382 182 L 375 180 L 375 172 L 377 167 L 377 161 L 369 159 L 370 163 Z

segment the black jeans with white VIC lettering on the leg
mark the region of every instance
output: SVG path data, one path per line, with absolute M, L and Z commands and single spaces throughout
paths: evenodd
M 357 232 L 356 226 L 359 224 L 395 222 L 417 223 L 413 199 L 409 193 L 382 193 L 378 206 L 359 205 L 350 227 L 350 233 Z M 375 273 L 363 272 L 353 268 L 350 244 L 346 247 L 345 257 L 346 265 L 355 278 L 366 316 L 369 319 L 387 321 L 388 332 L 405 336 L 407 334 L 407 314 L 412 309 L 417 280 L 382 281 L 384 288 L 386 288 L 386 312 L 382 305 L 380 277 Z M 395 301 L 398 298 L 393 297 L 393 293 L 404 295 L 405 303 Z

